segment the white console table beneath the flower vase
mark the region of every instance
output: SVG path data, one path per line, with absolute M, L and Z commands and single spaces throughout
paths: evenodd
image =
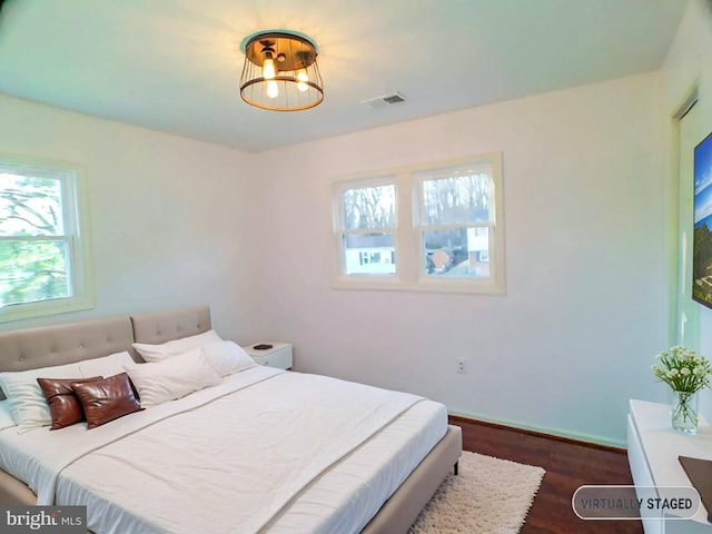
M 678 456 L 712 459 L 712 427 L 700 418 L 698 434 L 673 431 L 670 406 L 631 400 L 627 416 L 627 459 L 636 486 L 691 486 Z M 642 498 L 641 492 L 639 498 Z M 712 534 L 708 511 L 692 520 L 643 518 L 645 534 Z

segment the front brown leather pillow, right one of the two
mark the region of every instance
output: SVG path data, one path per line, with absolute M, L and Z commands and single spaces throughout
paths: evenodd
M 89 428 L 144 409 L 126 373 L 96 382 L 75 382 L 71 387 L 81 402 Z

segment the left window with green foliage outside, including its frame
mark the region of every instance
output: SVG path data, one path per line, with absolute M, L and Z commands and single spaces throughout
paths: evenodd
M 0 157 L 0 322 L 92 306 L 80 168 Z

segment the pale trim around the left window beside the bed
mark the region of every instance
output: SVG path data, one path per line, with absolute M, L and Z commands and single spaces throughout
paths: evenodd
M 62 180 L 62 209 L 67 225 L 66 239 L 70 248 L 70 277 L 73 295 L 66 298 L 0 306 L 0 323 L 44 317 L 89 309 L 95 305 L 93 271 L 91 266 L 89 209 L 86 195 L 83 166 L 75 162 L 0 154 L 2 168 L 59 177 Z

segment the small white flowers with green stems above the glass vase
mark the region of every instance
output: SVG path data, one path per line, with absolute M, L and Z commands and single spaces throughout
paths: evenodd
M 694 350 L 679 345 L 670 350 L 660 353 L 651 369 L 662 382 L 674 392 L 696 393 L 703 387 L 710 387 L 712 367 L 704 356 L 698 356 Z

